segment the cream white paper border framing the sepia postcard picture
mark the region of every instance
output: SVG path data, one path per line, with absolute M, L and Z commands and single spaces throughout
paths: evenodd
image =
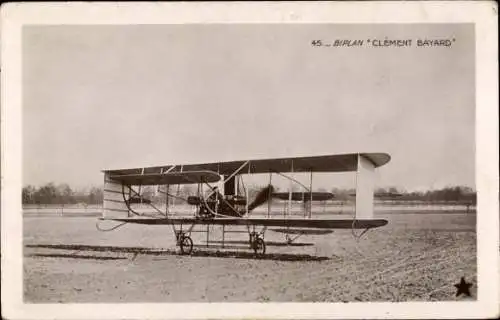
M 9 319 L 491 318 L 499 315 L 496 2 L 10 3 L 2 6 L 2 313 Z M 21 28 L 25 24 L 463 23 L 476 26 L 478 300 L 415 303 L 23 304 Z

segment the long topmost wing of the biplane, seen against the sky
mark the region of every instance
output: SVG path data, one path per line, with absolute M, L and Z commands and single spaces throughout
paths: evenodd
M 358 156 L 366 158 L 373 163 L 374 167 L 380 167 L 391 159 L 386 153 L 351 153 L 321 155 L 313 157 L 293 157 L 293 158 L 275 158 L 275 159 L 254 159 L 238 160 L 226 162 L 212 162 L 184 165 L 165 165 L 148 168 L 133 168 L 122 170 L 106 170 L 111 174 L 139 174 L 144 169 L 144 173 L 159 173 L 167 169 L 177 171 L 182 168 L 183 171 L 210 170 L 223 175 L 230 175 L 248 162 L 250 168 L 246 167 L 241 171 L 245 173 L 269 173 L 269 172 L 344 172 L 356 171 L 358 165 Z

